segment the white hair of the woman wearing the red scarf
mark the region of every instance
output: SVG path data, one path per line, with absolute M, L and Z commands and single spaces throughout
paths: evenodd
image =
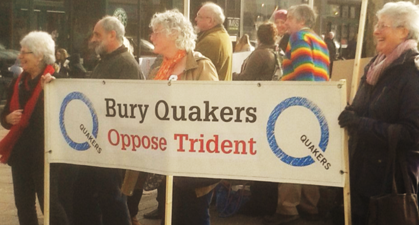
M 20 41 L 20 46 L 28 48 L 34 56 L 43 56 L 46 65 L 55 62 L 55 42 L 46 32 L 32 31 Z

